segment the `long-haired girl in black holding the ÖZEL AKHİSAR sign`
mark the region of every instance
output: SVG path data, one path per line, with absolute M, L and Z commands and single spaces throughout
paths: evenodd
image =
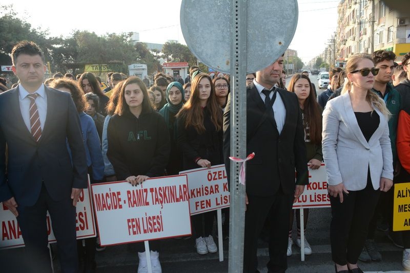
M 183 169 L 190 170 L 223 163 L 222 111 L 207 74 L 192 79 L 191 96 L 177 114 L 178 144 L 183 153 Z M 218 251 L 212 237 L 215 212 L 193 215 L 198 254 Z M 202 219 L 204 227 L 202 227 Z

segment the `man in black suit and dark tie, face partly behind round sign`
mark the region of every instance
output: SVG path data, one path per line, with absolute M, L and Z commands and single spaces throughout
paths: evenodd
M 247 154 L 255 152 L 255 157 L 247 162 L 243 272 L 259 272 L 256 251 L 265 220 L 269 223 L 270 236 L 268 270 L 286 270 L 292 203 L 308 184 L 297 96 L 275 87 L 282 70 L 283 56 L 256 72 L 256 78 L 247 87 Z M 229 99 L 223 115 L 224 155 L 228 170 L 230 103 Z

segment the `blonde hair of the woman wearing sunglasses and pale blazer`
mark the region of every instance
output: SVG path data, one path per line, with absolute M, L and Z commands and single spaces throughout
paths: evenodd
M 359 61 L 363 59 L 368 59 L 373 62 L 373 58 L 369 54 L 366 54 L 366 53 L 355 54 L 352 57 L 350 57 L 346 62 L 346 69 L 345 69 L 346 75 L 348 73 L 352 73 L 352 71 L 357 70 L 357 65 Z M 347 78 L 347 80 L 344 82 L 344 86 L 343 86 L 341 94 L 344 94 L 347 91 L 350 91 L 352 85 L 353 83 Z M 379 95 L 377 95 L 371 89 L 367 90 L 366 101 L 368 101 L 372 106 L 379 109 L 379 111 L 382 112 L 382 114 L 386 116 L 388 119 L 392 116 L 392 113 L 387 109 L 384 101 L 380 98 Z

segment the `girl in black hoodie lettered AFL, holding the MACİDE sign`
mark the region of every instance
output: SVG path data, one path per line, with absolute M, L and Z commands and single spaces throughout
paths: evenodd
M 107 156 L 118 180 L 137 185 L 165 174 L 170 156 L 168 127 L 152 109 L 147 88 L 138 77 L 130 77 L 122 85 L 107 135 Z M 147 270 L 144 242 L 139 242 L 137 249 L 138 272 L 142 272 Z M 160 271 L 159 240 L 150 241 L 150 249 L 153 271 Z

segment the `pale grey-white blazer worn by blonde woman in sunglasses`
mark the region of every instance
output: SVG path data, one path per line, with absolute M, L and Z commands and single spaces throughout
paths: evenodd
M 322 151 L 329 185 L 343 183 L 347 190 L 362 190 L 366 187 L 368 166 L 375 190 L 380 188 L 381 177 L 393 180 L 387 118 L 373 108 L 380 123 L 367 143 L 348 92 L 327 102 L 323 111 Z

